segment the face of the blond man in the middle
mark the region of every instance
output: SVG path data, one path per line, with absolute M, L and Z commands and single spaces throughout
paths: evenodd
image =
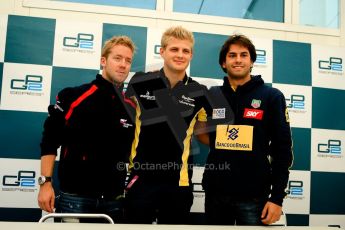
M 185 72 L 193 57 L 192 43 L 188 40 L 170 38 L 168 45 L 160 49 L 164 68 L 170 72 Z

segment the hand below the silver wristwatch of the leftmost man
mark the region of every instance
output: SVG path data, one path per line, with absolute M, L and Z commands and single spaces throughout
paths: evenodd
M 38 193 L 38 206 L 46 212 L 54 212 L 55 192 L 51 182 L 46 182 L 40 187 Z

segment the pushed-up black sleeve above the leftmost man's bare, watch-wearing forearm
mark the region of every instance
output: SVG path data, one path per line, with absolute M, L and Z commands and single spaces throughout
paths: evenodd
M 41 156 L 57 155 L 57 149 L 62 144 L 63 130 L 65 126 L 65 114 L 68 111 L 70 98 L 69 88 L 59 92 L 56 103 L 48 106 L 48 117 L 43 125 L 41 140 Z

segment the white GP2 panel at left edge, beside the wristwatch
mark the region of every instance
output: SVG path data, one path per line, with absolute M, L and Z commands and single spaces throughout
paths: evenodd
M 1 207 L 38 208 L 39 160 L 0 159 Z

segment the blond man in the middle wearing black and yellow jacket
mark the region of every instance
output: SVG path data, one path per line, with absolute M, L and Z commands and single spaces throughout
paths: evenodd
M 193 204 L 191 141 L 207 119 L 206 87 L 186 74 L 193 34 L 181 26 L 161 40 L 160 71 L 137 73 L 126 94 L 137 102 L 126 216 L 130 223 L 187 224 Z

